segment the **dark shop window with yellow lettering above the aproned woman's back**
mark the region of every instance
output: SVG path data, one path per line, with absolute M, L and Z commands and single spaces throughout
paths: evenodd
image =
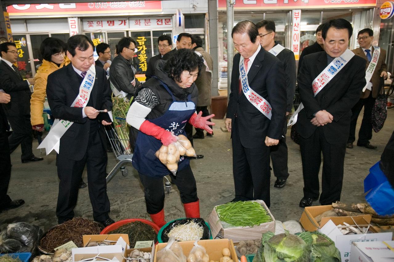
M 137 42 L 138 51 L 133 58 L 136 74 L 145 74 L 148 60 L 152 57 L 151 31 L 130 32 L 130 36 Z

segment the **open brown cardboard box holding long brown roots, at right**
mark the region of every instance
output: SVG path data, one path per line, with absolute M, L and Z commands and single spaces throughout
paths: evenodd
M 323 227 L 325 223 L 329 220 L 332 220 L 335 225 L 342 224 L 346 222 L 350 225 L 353 225 L 353 219 L 359 221 L 359 225 L 368 225 L 371 221 L 372 215 L 360 215 L 360 216 L 330 216 L 327 218 L 322 218 L 322 221 L 318 223 L 314 218 L 325 211 L 333 210 L 334 208 L 331 205 L 326 206 L 314 206 L 314 207 L 305 207 L 304 212 L 301 215 L 299 222 L 304 227 L 306 231 L 315 231 Z M 364 220 L 364 221 L 362 221 Z

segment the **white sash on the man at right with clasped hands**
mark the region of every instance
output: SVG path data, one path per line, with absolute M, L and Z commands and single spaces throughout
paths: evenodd
M 333 79 L 338 72 L 345 67 L 345 65 L 349 62 L 349 60 L 354 56 L 354 53 L 349 49 L 340 56 L 334 58 L 334 60 L 329 63 L 329 65 L 324 68 L 324 70 L 313 80 L 312 82 L 312 90 L 314 96 L 316 96 L 328 83 Z M 298 113 L 304 108 L 304 105 L 301 103 L 297 108 L 296 112 L 290 118 L 287 126 L 294 125 L 297 122 Z M 314 112 L 316 113 L 316 112 Z

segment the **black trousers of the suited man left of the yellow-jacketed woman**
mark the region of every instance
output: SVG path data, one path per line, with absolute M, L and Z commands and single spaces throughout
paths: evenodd
M 30 159 L 33 156 L 33 129 L 30 122 L 30 114 L 21 116 L 7 115 L 8 122 L 12 128 L 12 134 L 8 137 L 9 152 L 12 153 L 20 144 L 22 149 L 21 159 Z

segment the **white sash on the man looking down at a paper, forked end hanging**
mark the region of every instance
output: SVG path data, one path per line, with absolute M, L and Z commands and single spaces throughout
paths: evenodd
M 87 70 L 84 80 L 79 87 L 79 94 L 72 102 L 71 107 L 85 107 L 89 101 L 90 94 L 95 84 L 96 68 L 95 65 L 91 65 Z M 82 114 L 82 110 L 81 110 Z M 62 119 L 55 119 L 48 135 L 45 137 L 43 142 L 39 144 L 38 148 L 45 148 L 46 155 L 48 155 L 53 149 L 59 153 L 60 138 L 67 132 L 74 122 Z M 38 149 L 37 148 L 37 149 Z

